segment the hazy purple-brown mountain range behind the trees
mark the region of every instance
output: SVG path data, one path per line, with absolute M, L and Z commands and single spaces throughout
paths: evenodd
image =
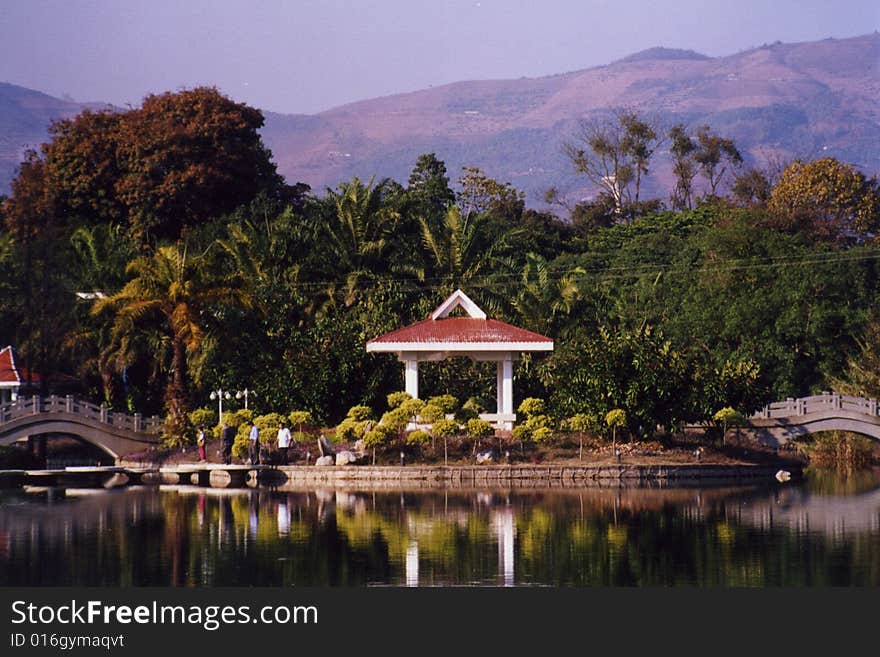
M 10 113 L 10 88 L 0 85 L 0 183 L 20 157 L 23 136 L 36 143 L 48 118 L 76 111 L 16 87 L 20 98 Z M 777 42 L 725 57 L 650 48 L 607 66 L 541 78 L 457 82 L 314 115 L 265 112 L 263 138 L 288 182 L 318 192 L 353 175 L 405 183 L 418 155 L 433 151 L 453 180 L 462 166 L 478 166 L 535 202 L 551 185 L 588 193 L 561 144 L 579 119 L 619 107 L 663 125 L 708 124 L 758 164 L 830 155 L 877 173 L 880 34 Z M 669 180 L 660 158 L 648 191 L 666 196 Z

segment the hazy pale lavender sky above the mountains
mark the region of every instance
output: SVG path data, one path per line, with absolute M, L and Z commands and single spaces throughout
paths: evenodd
M 202 84 L 277 112 L 535 77 L 652 46 L 880 29 L 880 0 L 0 0 L 0 81 L 137 105 Z

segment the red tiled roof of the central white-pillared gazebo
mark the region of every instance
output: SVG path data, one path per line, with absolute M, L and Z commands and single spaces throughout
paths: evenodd
M 497 319 L 474 319 L 471 317 L 445 317 L 426 319 L 415 324 L 386 333 L 371 344 L 442 345 L 447 343 L 544 343 L 553 341 L 538 333 L 505 324 Z

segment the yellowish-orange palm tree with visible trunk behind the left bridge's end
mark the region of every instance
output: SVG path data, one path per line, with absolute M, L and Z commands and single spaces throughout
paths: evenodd
M 179 440 L 186 428 L 190 369 L 204 356 L 206 343 L 214 337 L 208 323 L 224 306 L 253 307 L 246 280 L 238 272 L 218 273 L 208 260 L 211 249 L 191 257 L 185 246 L 164 246 L 151 256 L 132 260 L 126 272 L 133 275 L 116 294 L 99 299 L 92 308 L 97 315 L 111 310 L 112 340 L 117 354 L 143 344 L 165 342 L 170 347 L 170 375 L 165 388 L 166 439 Z M 169 350 L 157 349 L 158 367 L 167 365 Z

